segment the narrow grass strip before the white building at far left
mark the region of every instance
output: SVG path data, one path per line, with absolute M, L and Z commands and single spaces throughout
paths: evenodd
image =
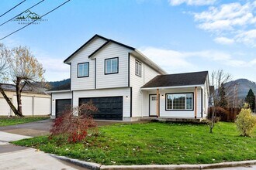
M 48 116 L 26 116 L 26 117 L 4 117 L 0 116 L 0 127 L 1 126 L 9 126 L 15 124 L 25 124 L 32 121 L 41 121 L 45 119 L 49 119 Z

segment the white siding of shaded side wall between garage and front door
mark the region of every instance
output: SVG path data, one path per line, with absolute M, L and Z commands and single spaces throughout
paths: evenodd
M 135 61 L 136 57 L 130 55 L 130 87 L 133 87 L 133 117 L 142 117 L 142 110 L 145 101 L 140 92 L 140 87 L 145 83 L 152 80 L 155 76 L 159 75 L 157 71 L 153 70 L 150 66 L 143 63 L 140 59 L 137 59 L 141 63 L 141 77 L 135 74 Z

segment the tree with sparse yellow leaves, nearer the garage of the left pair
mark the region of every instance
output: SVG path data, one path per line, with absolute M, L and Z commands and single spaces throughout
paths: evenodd
M 21 93 L 23 88 L 33 85 L 33 82 L 42 82 L 45 70 L 26 46 L 13 48 L 11 54 L 7 57 L 9 76 L 16 84 L 18 112 L 22 115 Z

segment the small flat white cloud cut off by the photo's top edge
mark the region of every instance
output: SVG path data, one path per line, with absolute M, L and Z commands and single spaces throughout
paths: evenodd
M 216 0 L 169 0 L 170 5 L 213 5 Z

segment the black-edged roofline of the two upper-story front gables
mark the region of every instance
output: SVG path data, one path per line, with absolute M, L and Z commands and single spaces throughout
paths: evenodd
M 126 48 L 131 49 L 131 50 L 135 50 L 135 48 L 133 48 L 132 46 L 127 46 L 127 45 L 125 45 L 125 44 L 123 44 L 123 43 L 121 43 L 121 42 L 117 42 L 117 41 L 114 41 L 114 40 L 112 40 L 112 39 L 107 39 L 107 38 L 104 37 L 104 36 L 99 36 L 98 34 L 95 34 L 95 36 L 92 36 L 92 38 L 89 39 L 87 42 L 85 42 L 84 45 L 82 45 L 79 49 L 77 49 L 74 53 L 72 53 L 71 56 L 68 56 L 67 59 L 64 60 L 64 63 L 66 63 L 68 59 L 71 59 L 71 57 L 74 56 L 75 53 L 78 53 L 78 51 L 79 51 L 80 49 L 82 49 L 84 46 L 86 46 L 89 42 L 91 42 L 91 41 L 92 41 L 93 39 L 95 39 L 95 38 L 105 39 L 106 42 L 105 42 L 102 46 L 100 46 L 99 49 L 96 49 L 95 52 L 93 52 L 92 54 L 90 54 L 90 55 L 88 56 L 88 58 L 90 58 L 90 57 L 93 56 L 95 53 L 97 53 L 100 49 L 102 49 L 104 46 L 106 46 L 107 44 L 109 44 L 109 42 L 113 42 L 113 43 L 118 44 L 119 46 L 123 46 L 123 47 L 126 47 Z

